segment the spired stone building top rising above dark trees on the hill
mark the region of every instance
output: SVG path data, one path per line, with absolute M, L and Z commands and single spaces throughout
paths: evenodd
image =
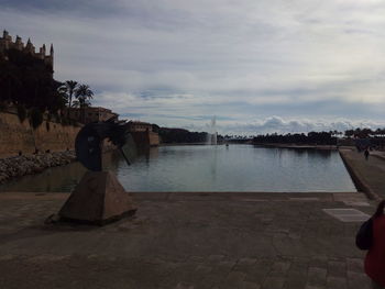
M 2 55 L 6 55 L 7 51 L 10 49 L 16 49 L 20 52 L 23 52 L 25 54 L 29 54 L 35 58 L 38 58 L 45 63 L 45 65 L 50 66 L 52 69 L 54 69 L 54 46 L 51 44 L 50 54 L 46 55 L 46 48 L 45 44 L 43 44 L 42 47 L 40 47 L 38 52 L 35 52 L 35 46 L 32 44 L 31 40 L 29 38 L 25 46 L 22 42 L 21 37 L 16 35 L 14 42 L 12 42 L 12 36 L 9 35 L 8 31 L 3 31 L 2 37 L 0 37 L 0 57 Z M 3 56 L 6 60 L 8 60 L 7 56 Z

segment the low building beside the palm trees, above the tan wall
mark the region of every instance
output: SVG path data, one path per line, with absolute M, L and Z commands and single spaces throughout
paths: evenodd
M 84 109 L 79 108 L 70 108 L 67 109 L 65 113 L 68 113 L 69 110 L 69 119 L 80 122 L 80 123 L 90 123 L 90 122 L 99 122 L 107 121 L 111 118 L 118 118 L 119 114 L 112 112 L 109 109 L 100 108 L 100 107 L 86 107 Z

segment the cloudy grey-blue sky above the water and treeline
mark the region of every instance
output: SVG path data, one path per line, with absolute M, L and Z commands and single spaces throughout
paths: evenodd
M 385 1 L 0 0 L 121 119 L 222 134 L 385 126 Z

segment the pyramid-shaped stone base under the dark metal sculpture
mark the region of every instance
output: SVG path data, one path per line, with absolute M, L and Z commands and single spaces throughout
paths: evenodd
M 110 171 L 87 171 L 58 215 L 62 221 L 105 225 L 136 211 L 130 194 Z

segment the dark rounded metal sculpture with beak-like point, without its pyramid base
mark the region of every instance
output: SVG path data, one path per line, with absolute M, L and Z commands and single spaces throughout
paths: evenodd
M 131 163 L 124 151 L 129 151 L 132 145 L 132 137 L 127 132 L 125 121 L 118 121 L 111 118 L 103 122 L 92 122 L 85 125 L 75 140 L 75 151 L 77 159 L 89 170 L 102 170 L 102 144 L 109 138 L 123 155 L 127 164 Z

